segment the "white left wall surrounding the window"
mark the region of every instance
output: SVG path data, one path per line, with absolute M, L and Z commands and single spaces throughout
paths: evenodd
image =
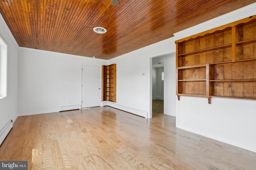
M 0 37 L 7 46 L 7 97 L 0 99 L 0 129 L 18 117 L 18 45 L 0 14 Z

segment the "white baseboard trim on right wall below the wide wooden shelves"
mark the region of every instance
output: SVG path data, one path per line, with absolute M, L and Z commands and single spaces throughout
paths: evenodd
M 245 145 L 245 144 L 238 143 L 238 142 L 235 142 L 235 141 L 231 141 L 231 140 L 228 140 L 228 139 L 225 139 L 225 138 L 222 138 L 222 137 L 218 137 L 218 136 L 215 136 L 215 135 L 211 135 L 211 134 L 208 134 L 208 133 L 204 133 L 204 132 L 201 132 L 201 131 L 190 129 L 188 127 L 184 127 L 184 126 L 180 126 L 180 125 L 176 125 L 176 127 L 180 128 L 180 129 L 183 129 L 185 131 L 190 131 L 192 133 L 196 133 L 198 135 L 202 135 L 204 137 L 208 137 L 208 138 L 220 141 L 220 142 L 224 142 L 224 143 L 236 146 L 236 147 L 240 147 L 242 149 L 246 149 L 246 150 L 250 150 L 252 152 L 256 152 L 256 147 L 253 147 L 253 146 L 249 146 L 249 145 Z

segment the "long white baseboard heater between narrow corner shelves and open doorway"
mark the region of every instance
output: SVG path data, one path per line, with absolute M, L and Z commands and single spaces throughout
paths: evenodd
M 127 111 L 129 113 L 133 113 L 135 115 L 139 115 L 139 116 L 148 118 L 148 112 L 147 111 L 133 109 L 133 108 L 122 106 L 122 105 L 119 105 L 119 104 L 116 104 L 116 103 L 113 103 L 113 102 L 104 102 L 104 106 L 114 107 L 116 109 L 120 109 L 120 110 L 123 110 L 123 111 Z

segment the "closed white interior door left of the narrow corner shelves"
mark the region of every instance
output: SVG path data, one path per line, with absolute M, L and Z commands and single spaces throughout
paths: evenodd
M 82 108 L 100 106 L 100 80 L 101 68 L 99 66 L 82 66 Z

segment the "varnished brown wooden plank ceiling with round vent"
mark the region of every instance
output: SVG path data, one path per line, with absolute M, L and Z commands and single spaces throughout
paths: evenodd
M 20 47 L 112 59 L 256 0 L 0 0 Z M 98 34 L 94 27 L 107 32 Z

